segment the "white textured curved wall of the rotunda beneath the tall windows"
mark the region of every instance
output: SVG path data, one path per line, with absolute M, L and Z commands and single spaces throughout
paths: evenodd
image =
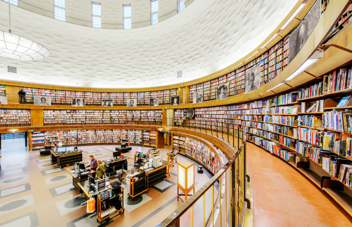
M 45 46 L 50 56 L 31 62 L 0 56 L 0 79 L 98 88 L 194 80 L 243 58 L 296 3 L 195 0 L 165 21 L 129 30 L 90 28 L 12 7 L 12 32 Z M 8 29 L 7 3 L 0 1 L 0 30 Z M 7 73 L 7 66 L 18 67 L 18 73 Z

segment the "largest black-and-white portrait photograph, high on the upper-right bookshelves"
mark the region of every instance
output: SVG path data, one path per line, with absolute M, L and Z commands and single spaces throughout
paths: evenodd
M 301 24 L 289 36 L 288 63 L 290 63 L 298 52 L 300 52 L 320 20 L 320 4 L 318 2 L 319 1 L 314 4 L 307 16 L 302 20 Z

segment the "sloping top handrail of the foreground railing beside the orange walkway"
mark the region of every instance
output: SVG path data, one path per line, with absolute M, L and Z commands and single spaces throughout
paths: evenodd
M 245 145 L 242 144 L 240 149 L 236 152 L 228 162 L 207 182 L 203 185 L 195 194 L 193 194 L 189 199 L 187 199 L 181 206 L 175 209 L 170 215 L 168 215 L 159 226 L 172 226 L 172 223 L 175 219 L 180 218 L 197 200 L 206 193 L 212 185 L 214 185 L 219 178 L 227 171 L 231 164 L 236 160 L 240 153 L 244 150 Z M 219 188 L 221 191 L 221 188 Z

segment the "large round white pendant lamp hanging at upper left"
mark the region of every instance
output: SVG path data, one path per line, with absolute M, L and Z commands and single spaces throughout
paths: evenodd
M 0 30 L 0 56 L 19 60 L 40 60 L 50 55 L 50 51 L 30 39 Z

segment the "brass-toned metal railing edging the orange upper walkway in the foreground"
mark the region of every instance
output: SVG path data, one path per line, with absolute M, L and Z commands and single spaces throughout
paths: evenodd
M 216 136 L 231 142 L 235 155 L 202 188 L 168 215 L 158 226 L 243 226 L 246 200 L 246 144 L 245 133 L 228 124 L 227 131 L 205 132 L 207 127 L 189 125 L 190 130 Z M 218 127 L 218 126 L 216 126 Z M 187 128 L 187 127 L 185 127 Z M 230 139 L 231 137 L 231 139 Z

